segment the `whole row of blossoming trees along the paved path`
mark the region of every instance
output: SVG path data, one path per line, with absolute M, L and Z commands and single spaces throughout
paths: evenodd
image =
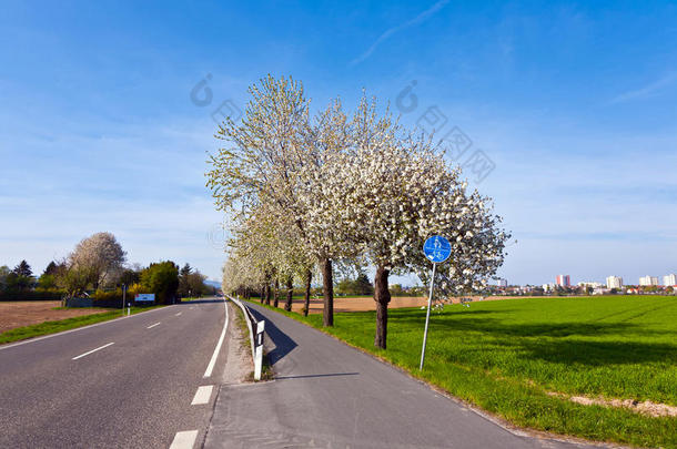
M 220 125 L 224 146 L 210 159 L 208 186 L 232 224 L 224 292 L 250 295 L 305 287 L 322 276 L 323 323 L 333 325 L 335 265 L 375 267 L 376 336 L 386 347 L 388 276 L 427 283 L 422 247 L 441 234 L 453 244 L 437 277 L 439 293 L 483 288 L 503 263 L 508 234 L 488 198 L 468 192 L 461 171 L 432 136 L 402 126 L 375 99 L 356 110 L 340 99 L 311 112 L 302 83 L 269 75 L 250 88 L 240 123 Z

